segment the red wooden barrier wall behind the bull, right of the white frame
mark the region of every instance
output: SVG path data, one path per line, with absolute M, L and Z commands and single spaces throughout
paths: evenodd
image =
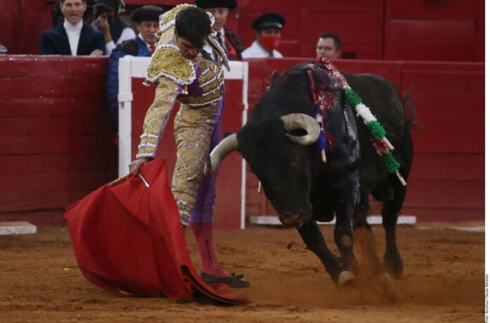
M 249 61 L 250 111 L 273 70 L 301 59 Z M 415 156 L 403 213 L 418 220 L 484 219 L 484 64 L 339 60 L 348 72 L 370 72 L 413 89 L 417 124 Z M 256 177 L 247 175 L 247 215 L 275 214 Z M 377 210 L 375 210 L 377 212 Z

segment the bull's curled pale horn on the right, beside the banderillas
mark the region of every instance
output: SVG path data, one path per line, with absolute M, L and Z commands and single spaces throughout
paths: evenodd
M 291 113 L 289 115 L 283 115 L 281 117 L 284 122 L 284 128 L 287 131 L 303 129 L 307 133 L 304 136 L 293 136 L 292 134 L 286 134 L 286 136 L 294 142 L 302 145 L 310 145 L 317 141 L 320 136 L 320 125 L 317 120 L 310 115 L 303 113 Z

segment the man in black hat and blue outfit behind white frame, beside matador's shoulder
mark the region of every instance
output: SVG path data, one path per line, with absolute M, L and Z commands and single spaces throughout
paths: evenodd
M 126 55 L 151 56 L 156 49 L 156 32 L 158 32 L 158 17 L 163 9 L 158 6 L 142 6 L 133 11 L 131 20 L 136 23 L 139 34 L 133 39 L 122 42 L 111 53 L 107 68 L 106 96 L 109 110 L 118 129 L 118 92 L 119 92 L 119 58 Z

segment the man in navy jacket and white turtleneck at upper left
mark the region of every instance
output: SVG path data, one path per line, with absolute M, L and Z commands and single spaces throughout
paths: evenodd
M 85 25 L 86 0 L 60 0 L 63 25 L 44 30 L 39 39 L 40 55 L 101 56 L 106 42 L 99 30 Z

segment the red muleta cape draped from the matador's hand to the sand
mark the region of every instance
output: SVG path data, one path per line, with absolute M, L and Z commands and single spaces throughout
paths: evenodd
M 194 298 L 248 303 L 226 285 L 208 286 L 192 266 L 180 216 L 167 182 L 167 163 L 153 160 L 139 177 L 104 185 L 66 208 L 65 218 L 82 274 L 122 296 Z

